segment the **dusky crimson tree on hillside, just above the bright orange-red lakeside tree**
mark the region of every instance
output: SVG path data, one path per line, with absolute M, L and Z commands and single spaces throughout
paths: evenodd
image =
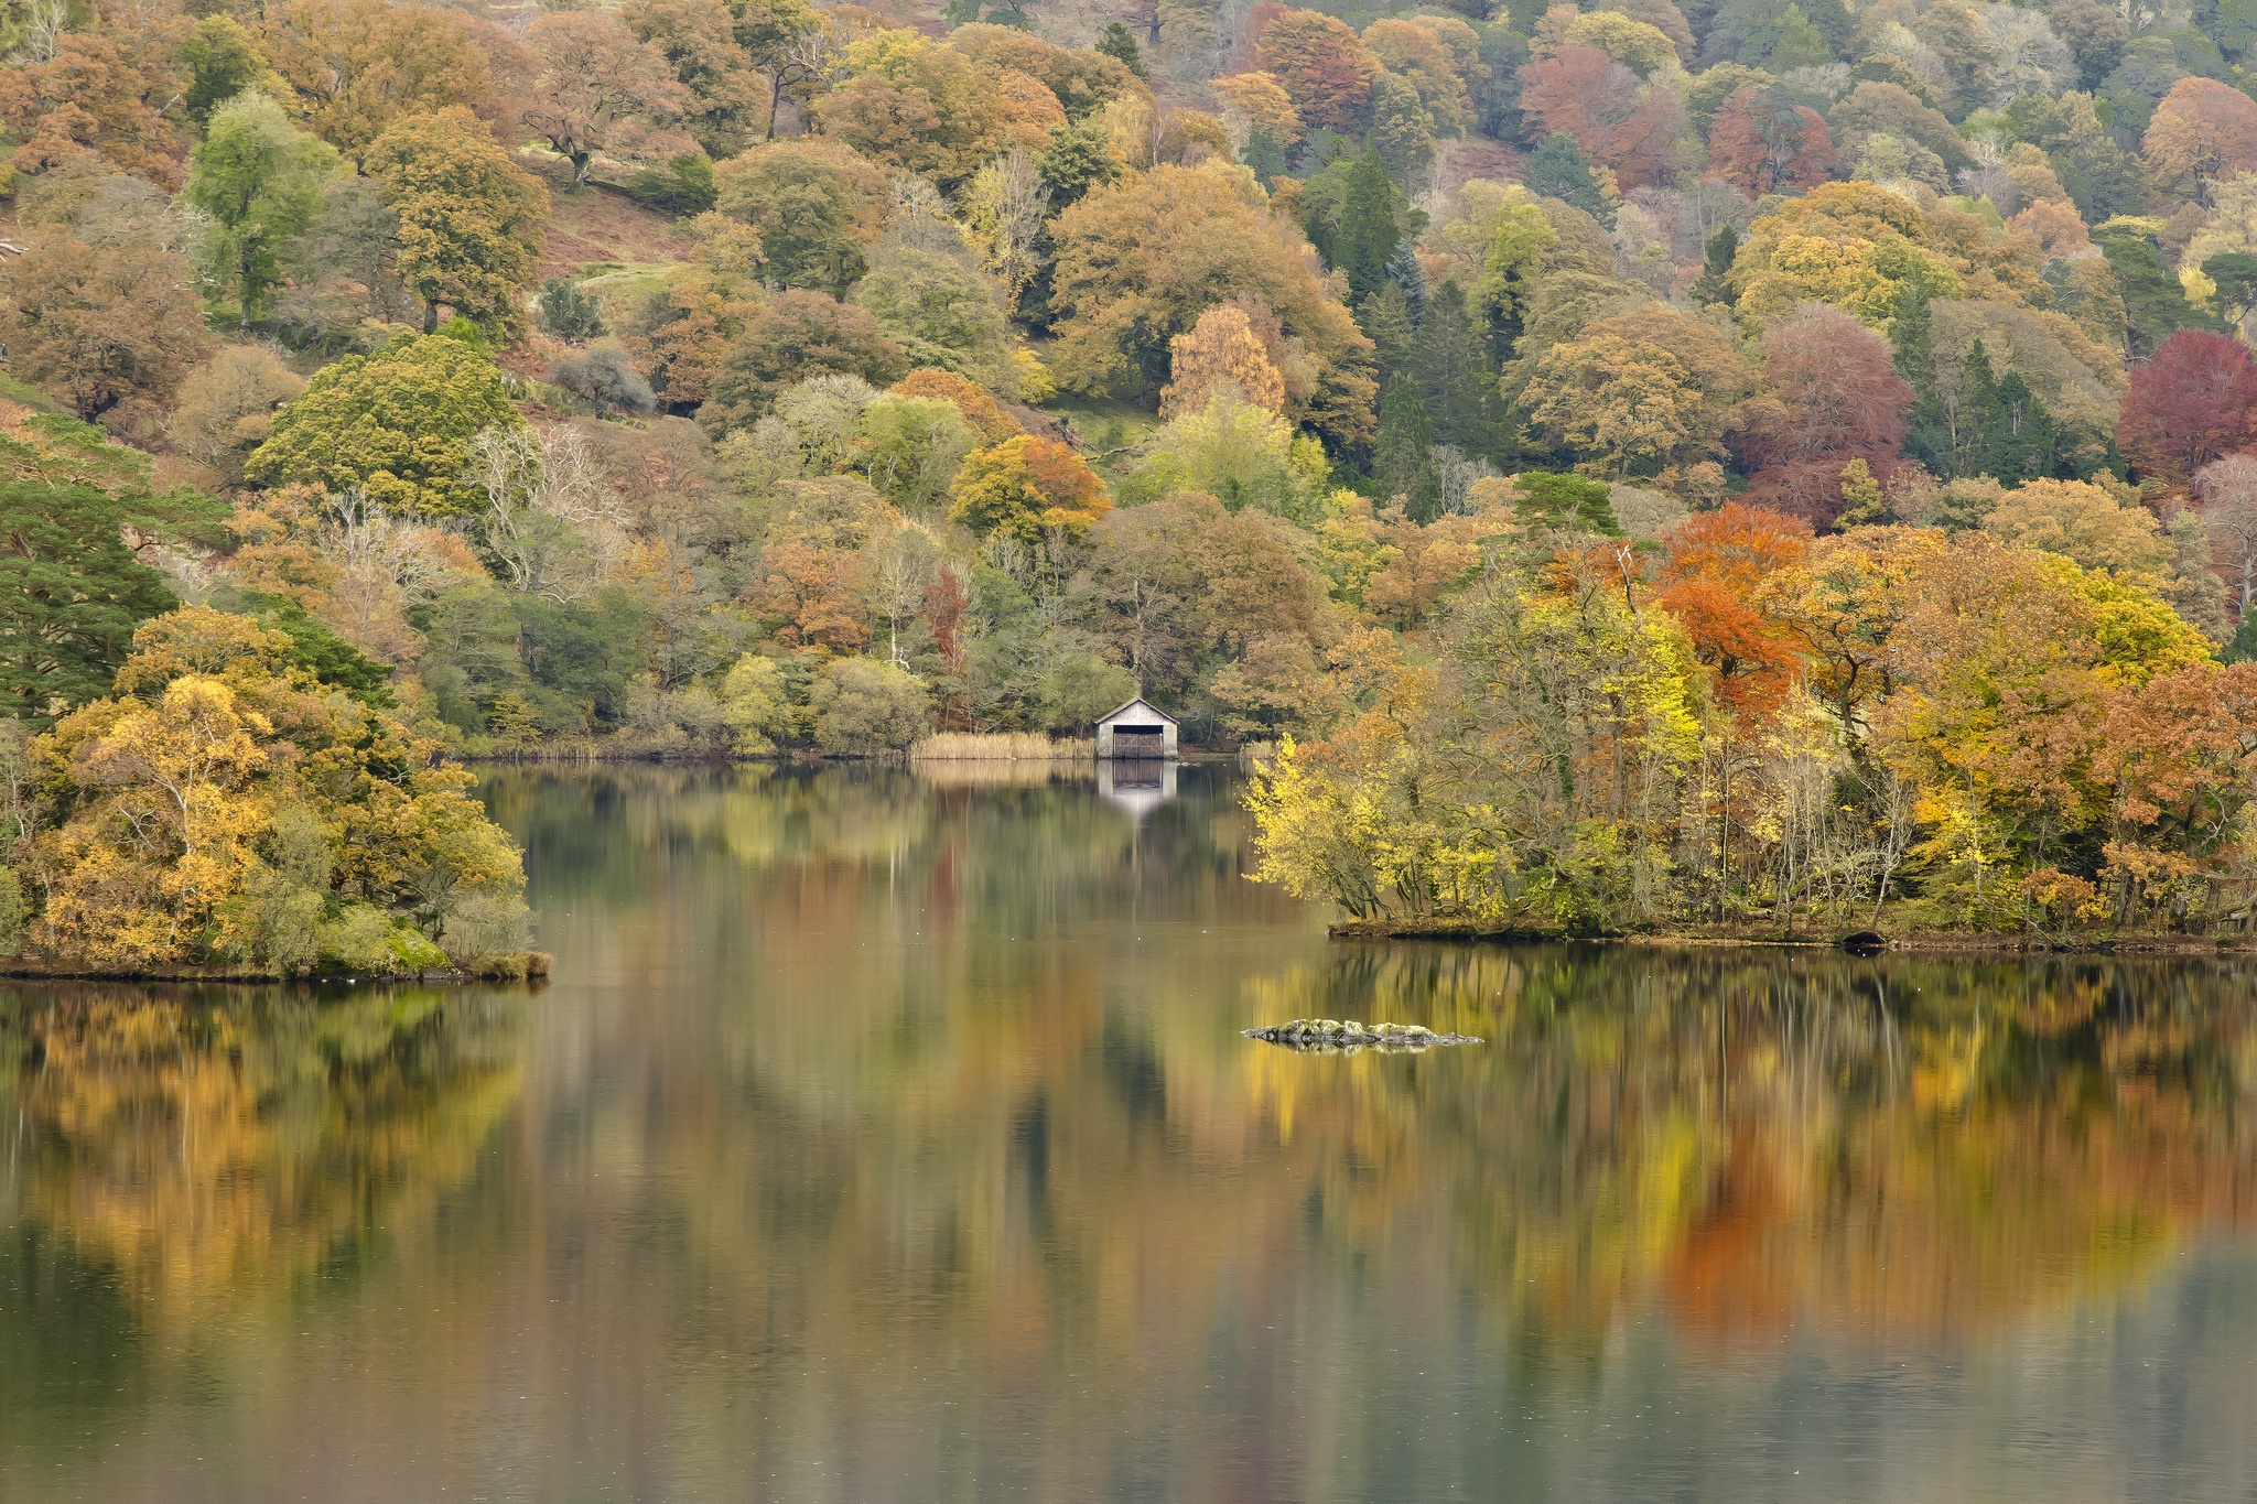
M 1747 494 L 1812 523 L 1842 510 L 1842 467 L 1885 476 L 1905 442 L 1912 388 L 1889 347 L 1842 309 L 1806 304 L 1763 336 L 1763 388 L 1749 404 L 1740 453 L 1756 471 Z

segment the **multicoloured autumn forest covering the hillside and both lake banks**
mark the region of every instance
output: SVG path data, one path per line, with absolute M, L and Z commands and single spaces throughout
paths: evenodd
M 11 0 L 0 949 L 1131 695 L 1377 927 L 2246 934 L 2243 11 Z

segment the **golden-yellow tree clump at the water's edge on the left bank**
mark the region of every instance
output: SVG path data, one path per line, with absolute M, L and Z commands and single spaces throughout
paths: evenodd
M 208 607 L 133 636 L 115 695 L 29 744 L 14 859 L 61 961 L 404 972 L 524 945 L 510 839 L 377 695 Z

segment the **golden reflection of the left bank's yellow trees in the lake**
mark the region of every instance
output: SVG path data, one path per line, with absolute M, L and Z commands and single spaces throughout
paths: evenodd
M 352 1267 L 469 1177 L 515 1098 L 499 1008 L 442 988 L 0 992 L 9 1211 L 174 1330 Z

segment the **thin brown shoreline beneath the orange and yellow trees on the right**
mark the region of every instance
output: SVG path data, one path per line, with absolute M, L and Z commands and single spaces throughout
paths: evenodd
M 1336 920 L 1329 940 L 1454 940 L 1478 945 L 1650 945 L 1650 947 L 1745 947 L 1833 949 L 1858 956 L 1968 954 L 1968 956 L 2246 956 L 2257 954 L 2257 936 L 2094 934 L 2052 938 L 2031 934 L 1982 934 L 1961 929 L 1842 929 L 1839 934 L 1657 929 L 1634 934 L 1569 934 L 1433 920 Z

